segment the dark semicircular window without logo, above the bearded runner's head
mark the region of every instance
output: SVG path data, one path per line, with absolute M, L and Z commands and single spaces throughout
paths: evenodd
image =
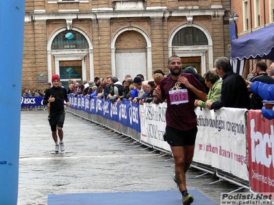
M 172 40 L 172 46 L 199 46 L 208 45 L 205 33 L 196 27 L 180 29 Z

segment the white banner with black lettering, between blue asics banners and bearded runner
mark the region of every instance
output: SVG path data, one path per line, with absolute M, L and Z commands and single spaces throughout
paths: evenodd
M 155 105 L 144 103 L 139 106 L 141 141 L 152 146 L 171 152 L 169 144 L 164 141 L 163 135 L 166 130 L 166 103 Z

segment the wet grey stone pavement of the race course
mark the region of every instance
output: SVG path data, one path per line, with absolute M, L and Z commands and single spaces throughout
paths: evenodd
M 47 111 L 21 111 L 18 205 L 47 204 L 50 194 L 176 189 L 171 156 L 72 113 L 66 113 L 64 145 L 65 152 L 55 154 Z M 200 174 L 187 172 L 188 189 L 217 204 L 221 192 L 238 188 L 225 181 L 203 185 L 216 179 Z

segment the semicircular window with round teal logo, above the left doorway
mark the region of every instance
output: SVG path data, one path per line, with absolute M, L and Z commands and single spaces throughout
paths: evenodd
M 53 39 L 51 50 L 88 49 L 88 41 L 78 31 L 62 31 Z

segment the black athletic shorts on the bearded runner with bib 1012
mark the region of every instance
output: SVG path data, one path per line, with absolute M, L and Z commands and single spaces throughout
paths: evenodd
M 193 146 L 198 128 L 195 126 L 188 131 L 179 131 L 171 126 L 166 126 L 166 141 L 171 146 Z

